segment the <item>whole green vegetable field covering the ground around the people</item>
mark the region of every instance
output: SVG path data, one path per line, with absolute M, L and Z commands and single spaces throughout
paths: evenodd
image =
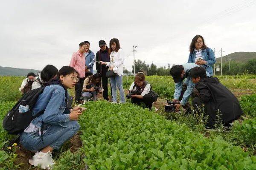
M 87 102 L 87 111 L 79 119 L 81 147 L 73 151 L 68 142 L 64 144 L 54 156 L 53 169 L 256 170 L 256 76 L 219 79 L 239 98 L 244 111 L 230 130 L 223 131 L 219 125 L 215 131 L 205 131 L 201 115 L 167 114 L 161 108 L 149 111 L 129 100 L 125 104 Z M 22 80 L 0 77 L 0 120 L 20 98 Z M 171 77 L 150 76 L 146 80 L 160 94 L 160 101 L 172 99 Z M 133 77 L 123 77 L 124 89 L 132 81 Z M 17 163 L 22 155 L 17 152 L 19 143 L 6 146 L 14 136 L 2 125 L 0 132 L 0 169 L 28 169 L 24 166 L 28 162 Z

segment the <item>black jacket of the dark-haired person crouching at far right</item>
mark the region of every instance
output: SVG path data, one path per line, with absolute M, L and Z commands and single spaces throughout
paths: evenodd
M 224 123 L 233 121 L 243 114 L 236 96 L 222 85 L 217 77 L 201 79 L 195 88 L 198 89 L 200 101 L 204 103 L 206 113 L 209 115 L 208 125 L 214 125 L 218 110 Z

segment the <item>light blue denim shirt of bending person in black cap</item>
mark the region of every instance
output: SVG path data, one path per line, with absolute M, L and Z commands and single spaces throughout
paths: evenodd
M 199 65 L 197 65 L 195 63 L 185 63 L 185 64 L 182 64 L 182 65 L 184 67 L 185 74 L 191 68 L 199 66 Z M 193 88 L 195 87 L 195 84 L 192 82 L 191 77 L 187 77 L 183 81 L 175 83 L 174 99 L 179 99 L 181 91 L 182 91 L 183 83 L 185 85 L 187 85 L 187 89 L 186 89 L 186 91 L 183 94 L 182 100 L 180 101 L 180 104 L 184 106 L 189 101 L 189 97 L 192 94 L 192 91 L 193 91 Z

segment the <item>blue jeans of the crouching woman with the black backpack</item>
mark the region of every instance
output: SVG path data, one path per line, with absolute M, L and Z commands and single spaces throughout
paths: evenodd
M 75 120 L 70 122 L 61 122 L 61 125 L 50 125 L 43 135 L 43 141 L 38 130 L 31 133 L 23 132 L 20 134 L 20 143 L 26 150 L 41 150 L 50 146 L 53 149 L 59 149 L 61 145 L 73 137 L 79 130 L 79 123 Z

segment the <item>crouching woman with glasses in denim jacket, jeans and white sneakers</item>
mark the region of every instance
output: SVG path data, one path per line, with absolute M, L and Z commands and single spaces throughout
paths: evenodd
M 74 136 L 79 130 L 80 107 L 66 110 L 67 88 L 73 88 L 78 81 L 78 72 L 64 66 L 58 72 L 58 79 L 52 79 L 38 96 L 33 116 L 41 111 L 41 116 L 33 119 L 29 126 L 20 134 L 20 143 L 27 150 L 36 151 L 35 156 L 29 159 L 34 166 L 51 169 L 54 162 L 52 151 Z M 43 126 L 42 126 L 43 125 Z M 41 128 L 43 130 L 41 130 Z M 41 134 L 43 131 L 43 135 Z

